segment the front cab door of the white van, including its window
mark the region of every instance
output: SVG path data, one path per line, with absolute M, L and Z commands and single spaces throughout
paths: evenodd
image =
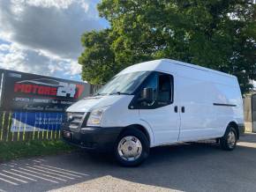
M 154 71 L 139 88 L 135 105 L 139 109 L 139 118 L 154 132 L 154 145 L 175 143 L 179 136 L 180 114 L 174 81 L 174 75 Z M 153 89 L 153 102 L 139 102 L 144 88 Z

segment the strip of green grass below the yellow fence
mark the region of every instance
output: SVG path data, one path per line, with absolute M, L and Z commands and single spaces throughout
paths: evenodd
M 73 151 L 75 148 L 56 141 L 0 142 L 0 163 L 12 159 L 54 155 Z

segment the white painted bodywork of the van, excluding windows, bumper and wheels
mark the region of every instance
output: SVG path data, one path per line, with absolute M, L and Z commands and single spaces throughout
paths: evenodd
M 230 122 L 243 128 L 243 100 L 236 77 L 169 59 L 135 64 L 117 76 L 139 71 L 173 76 L 173 102 L 162 107 L 136 109 L 129 106 L 140 92 L 116 92 L 79 100 L 67 112 L 90 113 L 105 107 L 100 125 L 104 131 L 140 125 L 147 130 L 151 147 L 222 137 Z

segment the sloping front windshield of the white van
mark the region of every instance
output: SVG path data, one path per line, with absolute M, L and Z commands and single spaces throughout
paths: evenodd
M 95 95 L 132 94 L 149 73 L 149 71 L 138 71 L 116 76 L 102 86 Z

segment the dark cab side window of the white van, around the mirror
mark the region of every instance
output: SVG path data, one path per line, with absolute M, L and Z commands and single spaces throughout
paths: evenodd
M 142 98 L 142 90 L 144 88 L 153 89 L 154 102 L 139 101 Z M 131 108 L 157 108 L 164 107 L 173 102 L 173 77 L 162 72 L 154 72 L 143 83 L 138 95 L 132 100 Z

